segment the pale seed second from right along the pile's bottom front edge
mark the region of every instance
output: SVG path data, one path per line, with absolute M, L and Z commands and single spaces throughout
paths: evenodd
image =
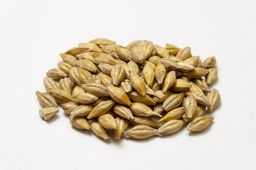
M 164 125 L 158 129 L 158 132 L 160 135 L 169 135 L 181 130 L 183 125 L 185 125 L 183 120 L 169 120 L 169 122 L 164 123 Z

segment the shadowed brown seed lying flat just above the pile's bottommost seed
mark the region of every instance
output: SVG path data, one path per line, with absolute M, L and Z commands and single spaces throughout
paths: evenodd
M 134 116 L 134 119 L 130 120 L 130 122 L 134 125 L 147 125 L 151 128 L 160 128 L 161 127 L 161 124 L 156 122 L 156 120 L 154 120 L 153 118 Z

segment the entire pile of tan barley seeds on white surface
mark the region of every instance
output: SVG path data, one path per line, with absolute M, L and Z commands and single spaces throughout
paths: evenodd
M 186 123 L 199 132 L 213 121 L 203 116 L 206 107 L 211 112 L 220 103 L 218 90 L 208 87 L 218 74 L 215 57 L 201 62 L 190 47 L 148 40 L 123 47 L 97 38 L 60 57 L 63 62 L 43 79 L 47 93 L 36 91 L 41 118 L 53 118 L 60 105 L 75 128 L 104 140 L 112 130 L 116 140 L 169 135 Z

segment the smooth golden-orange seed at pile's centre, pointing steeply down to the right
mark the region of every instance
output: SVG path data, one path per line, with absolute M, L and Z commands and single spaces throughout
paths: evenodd
M 142 96 L 146 95 L 146 86 L 138 74 L 134 70 L 130 70 L 130 82 L 132 87 Z

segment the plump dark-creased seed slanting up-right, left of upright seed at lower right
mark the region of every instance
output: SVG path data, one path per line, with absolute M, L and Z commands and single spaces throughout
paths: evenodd
M 177 108 L 185 95 L 183 93 L 181 94 L 171 94 L 163 103 L 163 109 L 164 111 L 171 111 L 174 108 Z

